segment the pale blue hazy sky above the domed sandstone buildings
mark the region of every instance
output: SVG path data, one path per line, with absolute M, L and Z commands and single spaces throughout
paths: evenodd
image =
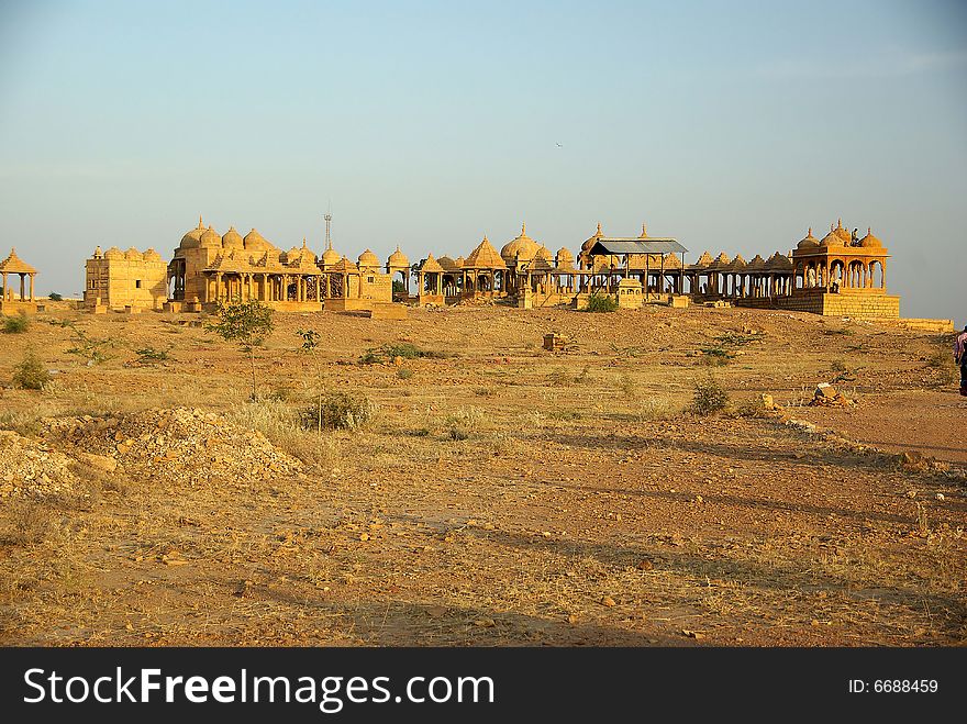
M 321 253 L 694 259 L 871 226 L 901 314 L 967 322 L 967 3 L 0 0 L 0 246 L 79 294 L 199 214 Z M 0 249 L 5 256 L 7 248 Z

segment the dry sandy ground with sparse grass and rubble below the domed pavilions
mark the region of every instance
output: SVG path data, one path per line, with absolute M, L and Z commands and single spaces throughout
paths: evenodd
M 8 470 L 67 470 L 4 483 L 0 644 L 965 641 L 944 337 L 694 308 L 277 315 L 252 404 L 245 357 L 193 323 L 55 309 L 0 335 L 0 380 L 27 348 L 56 370 L 0 398 Z M 400 343 L 434 356 L 359 364 Z M 694 414 L 710 376 L 733 408 Z M 837 378 L 855 405 L 805 405 Z M 377 413 L 294 428 L 320 388 Z

